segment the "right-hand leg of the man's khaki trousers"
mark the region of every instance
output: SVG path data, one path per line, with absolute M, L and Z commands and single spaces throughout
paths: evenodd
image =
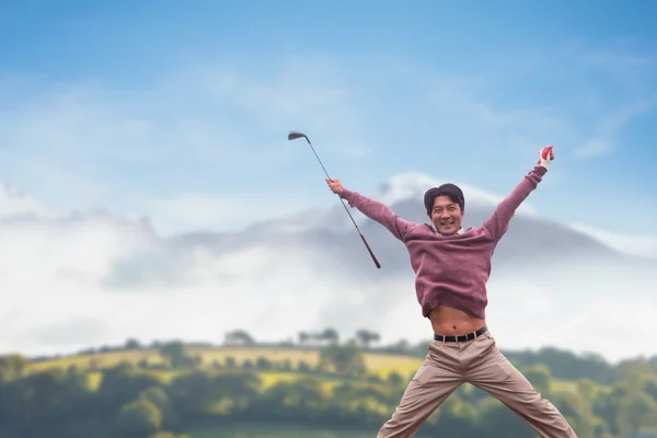
M 486 391 L 523 418 L 542 438 L 577 438 L 558 410 L 499 351 L 491 333 L 469 346 L 465 381 Z

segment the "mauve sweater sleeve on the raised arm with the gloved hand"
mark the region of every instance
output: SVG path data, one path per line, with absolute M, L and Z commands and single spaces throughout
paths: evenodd
M 522 178 L 520 184 L 518 184 L 516 188 L 514 188 L 514 191 L 497 205 L 493 215 L 484 221 L 482 228 L 491 234 L 494 241 L 499 241 L 507 232 L 509 222 L 516 214 L 516 210 L 520 207 L 520 204 L 527 199 L 529 194 L 538 187 L 539 183 L 543 180 L 545 172 L 548 172 L 545 168 L 541 165 L 534 166 Z

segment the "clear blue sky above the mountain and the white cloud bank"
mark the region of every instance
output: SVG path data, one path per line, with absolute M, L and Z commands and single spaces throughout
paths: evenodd
M 657 4 L 26 1 L 0 9 L 0 180 L 234 228 L 418 171 L 613 232 L 657 222 Z

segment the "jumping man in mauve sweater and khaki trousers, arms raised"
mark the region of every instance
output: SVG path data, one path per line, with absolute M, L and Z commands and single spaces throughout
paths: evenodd
M 556 407 L 499 351 L 485 320 L 491 257 L 517 208 L 550 169 L 552 148 L 540 151 L 538 164 L 481 227 L 468 230 L 461 227 L 463 193 L 453 184 L 426 192 L 424 203 L 431 227 L 406 221 L 385 205 L 344 188 L 338 180 L 326 178 L 333 193 L 406 245 L 416 275 L 417 300 L 434 330 L 423 365 L 378 438 L 412 437 L 465 382 L 503 402 L 543 438 L 577 437 Z

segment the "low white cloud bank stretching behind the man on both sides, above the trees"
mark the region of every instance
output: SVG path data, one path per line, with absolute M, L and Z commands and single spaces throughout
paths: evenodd
M 44 210 L 34 206 L 32 211 Z M 187 206 L 194 209 L 194 200 Z M 297 245 L 293 234 L 274 245 L 265 234 L 228 252 L 200 238 L 183 250 L 142 220 L 92 211 L 5 218 L 0 239 L 0 351 L 76 351 L 128 337 L 220 343 L 237 327 L 264 341 L 325 326 L 343 337 L 368 327 L 385 343 L 430 336 L 410 268 L 384 280 L 378 270 L 354 270 L 331 249 L 326 258 L 315 246 Z M 138 264 L 146 264 L 146 274 Z M 120 287 L 107 281 L 117 275 L 125 279 Z M 135 275 L 146 275 L 146 281 L 135 281 Z M 656 285 L 657 273 L 647 267 L 612 269 L 595 261 L 497 269 L 488 319 L 504 348 L 552 345 L 612 360 L 655 354 L 634 342 L 624 323 L 610 325 L 609 312 L 619 322 L 635 321 L 637 309 L 657 312 L 650 299 Z M 587 331 L 591 326 L 596 331 Z

